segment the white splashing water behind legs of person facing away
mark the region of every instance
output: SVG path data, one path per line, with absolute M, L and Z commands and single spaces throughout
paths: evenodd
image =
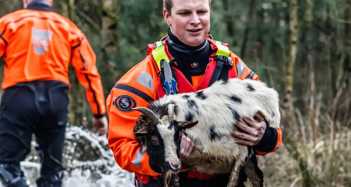
M 32 145 L 35 145 L 34 141 Z M 82 145 L 89 150 L 84 153 L 88 154 L 88 159 L 77 148 Z M 36 187 L 35 180 L 40 175 L 38 162 L 36 155 L 30 155 L 21 162 L 31 187 Z M 107 137 L 96 136 L 76 126 L 69 126 L 66 130 L 64 165 L 67 171 L 63 187 L 134 187 L 134 175 L 115 163 Z

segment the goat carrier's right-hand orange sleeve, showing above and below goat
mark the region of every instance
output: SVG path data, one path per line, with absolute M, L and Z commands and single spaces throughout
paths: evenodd
M 231 52 L 233 64 L 240 79 L 252 79 L 258 81 L 258 76 L 247 67 L 244 62 Z M 276 151 L 282 143 L 282 130 L 267 127 L 261 141 L 255 146 L 256 154 L 264 156 Z

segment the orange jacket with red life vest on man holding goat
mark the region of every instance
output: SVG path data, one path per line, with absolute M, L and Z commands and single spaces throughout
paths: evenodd
M 160 81 L 160 60 L 165 59 L 167 62 L 172 58 L 168 51 L 165 37 L 162 41 L 148 45 L 147 57 L 129 70 L 114 85 L 110 95 L 107 97 L 107 114 L 110 119 L 108 144 L 114 152 L 115 161 L 122 168 L 129 172 L 134 172 L 137 181 L 147 183 L 149 176 L 159 175 L 157 169 L 149 160 L 147 154 L 140 152 L 140 147 L 134 139 L 133 126 L 140 115 L 138 111 L 132 111 L 134 107 L 147 107 L 148 102 L 155 101 L 165 95 Z M 179 93 L 196 91 L 207 88 L 216 76 L 215 55 L 230 56 L 233 63 L 227 71 L 224 78 L 239 77 L 240 79 L 250 78 L 258 80 L 258 76 L 248 68 L 243 61 L 229 51 L 228 44 L 213 41 L 209 35 L 207 40 L 211 48 L 215 51 L 210 56 L 210 63 L 204 75 L 192 76 L 192 84 L 187 81 L 183 74 L 177 70 L 177 64 L 171 69 L 176 73 Z M 218 74 L 217 74 L 218 75 Z M 282 141 L 282 132 L 278 130 L 278 138 L 272 150 L 267 152 L 257 151 L 258 155 L 266 155 L 276 151 Z M 186 168 L 185 168 L 186 169 Z M 206 178 L 208 176 L 189 172 L 189 177 Z M 155 179 L 155 177 L 152 177 Z

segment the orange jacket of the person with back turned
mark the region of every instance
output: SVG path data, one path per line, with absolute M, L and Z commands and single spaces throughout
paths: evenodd
M 6 62 L 2 89 L 34 80 L 69 84 L 67 71 L 72 62 L 94 116 L 106 113 L 94 51 L 81 30 L 64 16 L 21 9 L 2 17 L 0 56 Z

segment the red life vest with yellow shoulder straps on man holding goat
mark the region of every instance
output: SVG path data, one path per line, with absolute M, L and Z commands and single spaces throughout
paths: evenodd
M 237 78 L 236 68 L 233 68 L 233 61 L 231 59 L 234 56 L 231 57 L 230 55 L 231 53 L 228 48 L 229 44 L 222 43 L 219 41 L 214 41 L 211 35 L 208 35 L 206 38 L 210 42 L 211 48 L 213 50 L 216 50 L 216 52 L 209 57 L 210 62 L 208 63 L 204 77 L 197 88 L 194 88 L 194 86 L 186 79 L 186 77 L 183 75 L 181 71 L 171 66 L 171 70 L 174 72 L 174 75 L 176 76 L 174 78 L 177 80 L 177 83 L 178 83 L 177 89 L 179 94 L 187 93 L 187 92 L 195 92 L 197 90 L 207 88 L 209 84 L 212 84 L 214 81 L 217 80 L 223 65 L 227 65 L 227 67 L 229 67 L 229 70 L 227 73 L 228 76 L 224 77 L 225 79 Z M 160 78 L 161 68 L 162 68 L 160 65 L 160 61 L 164 59 L 167 61 L 167 63 L 169 63 L 170 59 L 172 58 L 172 55 L 168 52 L 168 46 L 166 43 L 167 39 L 168 39 L 168 36 L 165 36 L 163 37 L 163 39 L 161 39 L 161 41 L 155 42 L 153 44 L 148 44 L 148 50 L 147 50 L 147 55 L 149 54 L 151 55 L 154 68 L 157 70 L 157 73 L 158 73 L 158 82 L 159 82 L 157 86 L 158 98 L 161 98 L 166 95 L 166 90 L 163 88 L 163 82 Z M 229 62 L 229 64 L 228 63 L 224 64 L 225 60 Z M 231 64 L 230 64 L 230 61 L 231 61 Z M 175 63 L 174 65 L 177 65 L 177 64 Z M 182 167 L 180 170 L 180 172 L 187 172 L 187 171 L 188 169 L 184 167 Z M 199 178 L 200 180 L 202 180 L 202 179 L 211 178 L 211 175 L 200 174 L 194 171 L 189 171 L 188 178 Z

